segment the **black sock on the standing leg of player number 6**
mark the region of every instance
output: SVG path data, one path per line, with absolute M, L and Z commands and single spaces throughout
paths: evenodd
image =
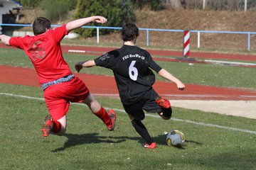
M 149 132 L 146 130 L 146 127 L 140 120 L 132 120 L 132 125 L 134 129 L 139 133 L 139 135 L 141 135 L 142 138 L 146 140 L 149 145 L 154 142 L 154 140 L 152 140 L 152 138 L 150 137 Z

